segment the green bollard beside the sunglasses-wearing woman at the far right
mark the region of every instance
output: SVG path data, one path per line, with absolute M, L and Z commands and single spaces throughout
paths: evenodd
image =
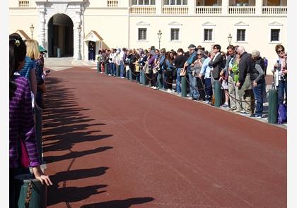
M 277 123 L 277 90 L 269 90 L 268 99 L 268 123 Z

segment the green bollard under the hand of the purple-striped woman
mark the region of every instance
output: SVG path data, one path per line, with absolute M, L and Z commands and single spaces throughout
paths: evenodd
M 22 174 L 15 177 L 16 179 L 16 200 L 18 207 L 25 207 L 25 198 L 28 192 L 30 180 L 32 183 L 32 192 L 30 195 L 29 208 L 46 208 L 47 207 L 47 185 L 42 185 L 37 179 L 33 179 L 31 174 Z

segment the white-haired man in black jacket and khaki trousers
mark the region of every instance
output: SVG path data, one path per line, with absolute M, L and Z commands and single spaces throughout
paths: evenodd
M 239 88 L 238 95 L 243 101 L 243 111 L 240 111 L 240 113 L 252 116 L 255 110 L 255 97 L 252 92 L 252 81 L 250 80 L 253 63 L 250 54 L 245 51 L 244 47 L 238 47 L 237 53 L 240 55 L 240 61 L 239 78 L 236 86 Z

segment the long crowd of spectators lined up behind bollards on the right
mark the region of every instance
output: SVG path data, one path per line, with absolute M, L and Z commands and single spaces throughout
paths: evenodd
M 274 83 L 279 103 L 286 103 L 286 59 L 284 46 L 275 47 Z M 221 107 L 240 114 L 262 118 L 267 99 L 265 75 L 267 59 L 260 51 L 245 51 L 243 46 L 229 45 L 226 53 L 219 44 L 206 50 L 190 44 L 187 51 L 177 49 L 103 49 L 98 51 L 98 73 L 129 78 L 153 89 L 182 94 L 181 80 L 187 80 L 192 100 L 214 105 L 214 82 L 221 85 Z M 175 85 L 175 89 L 173 86 Z

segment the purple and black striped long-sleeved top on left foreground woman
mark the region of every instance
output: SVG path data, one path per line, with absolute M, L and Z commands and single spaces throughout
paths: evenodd
M 35 137 L 31 92 L 28 79 L 14 75 L 17 88 L 9 101 L 9 168 L 18 167 L 18 139 L 21 137 L 29 154 L 30 166 L 40 165 Z

